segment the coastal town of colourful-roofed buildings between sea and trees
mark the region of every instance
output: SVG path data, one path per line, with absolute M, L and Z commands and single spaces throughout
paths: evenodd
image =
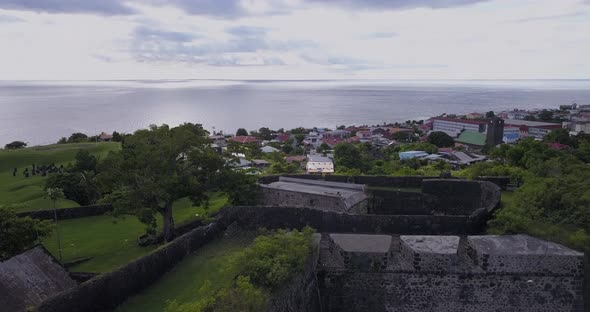
M 334 163 L 334 149 L 338 145 L 358 143 L 371 149 L 390 149 L 397 151 L 399 160 L 442 161 L 460 169 L 486 161 L 483 153 L 486 148 L 515 144 L 525 138 L 543 141 L 555 131 L 572 136 L 590 133 L 590 105 L 574 103 L 553 110 L 442 114 L 427 120 L 338 126 L 336 129 L 271 130 L 263 127 L 250 132 L 239 129 L 235 135 L 213 131 L 209 138 L 219 154 L 233 156 L 236 168 L 251 173 L 267 172 L 274 163 L 285 163 L 296 166 L 288 172 L 278 169 L 272 173 L 333 174 L 338 172 Z M 446 140 L 436 142 L 433 134 L 434 137 L 443 135 Z M 111 137 L 102 133 L 99 139 L 109 140 Z M 436 149 L 408 149 L 425 146 L 417 143 L 435 143 Z M 567 142 L 547 144 L 552 149 L 570 148 L 564 143 Z

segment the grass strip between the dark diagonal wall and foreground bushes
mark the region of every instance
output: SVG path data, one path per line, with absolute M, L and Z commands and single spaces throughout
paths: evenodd
M 120 305 L 117 312 L 164 311 L 167 303 L 196 302 L 228 285 L 237 272 L 229 265 L 237 252 L 255 235 L 236 235 L 215 240 L 187 256 L 156 283 Z

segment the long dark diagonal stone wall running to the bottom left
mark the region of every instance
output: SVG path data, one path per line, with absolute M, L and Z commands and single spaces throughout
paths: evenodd
M 190 252 L 218 237 L 224 220 L 198 227 L 113 272 L 99 275 L 42 302 L 40 312 L 108 311 L 151 285 Z

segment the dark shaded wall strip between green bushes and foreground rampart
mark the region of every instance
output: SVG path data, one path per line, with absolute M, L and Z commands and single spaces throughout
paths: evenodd
M 268 312 L 320 312 L 316 268 L 320 257 L 320 235 L 315 234 L 312 252 L 303 272 L 294 276 L 286 286 L 275 292 Z

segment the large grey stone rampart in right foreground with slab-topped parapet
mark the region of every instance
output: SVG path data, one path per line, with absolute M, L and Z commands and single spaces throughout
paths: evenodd
M 323 244 L 318 266 L 323 311 L 583 311 L 582 253 L 526 235 L 393 236 L 386 265 L 374 266 L 383 235 Z M 355 237 L 358 236 L 358 237 Z M 326 239 L 326 238 L 325 238 Z M 334 250 L 365 246 L 356 262 Z M 366 247 L 369 246 L 369 247 Z

